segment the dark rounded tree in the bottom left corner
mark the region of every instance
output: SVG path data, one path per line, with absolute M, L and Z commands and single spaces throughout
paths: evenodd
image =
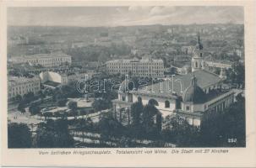
M 25 123 L 8 123 L 8 148 L 30 148 L 32 138 Z

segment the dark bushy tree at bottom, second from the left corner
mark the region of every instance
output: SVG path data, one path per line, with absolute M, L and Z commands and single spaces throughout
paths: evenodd
M 36 129 L 35 146 L 37 148 L 74 147 L 74 139 L 68 131 L 68 121 L 58 119 L 40 123 Z

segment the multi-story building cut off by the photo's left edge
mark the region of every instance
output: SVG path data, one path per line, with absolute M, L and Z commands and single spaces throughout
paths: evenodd
M 17 95 L 24 96 L 28 92 L 40 91 L 39 77 L 25 78 L 25 77 L 8 77 L 8 99 L 12 99 Z

